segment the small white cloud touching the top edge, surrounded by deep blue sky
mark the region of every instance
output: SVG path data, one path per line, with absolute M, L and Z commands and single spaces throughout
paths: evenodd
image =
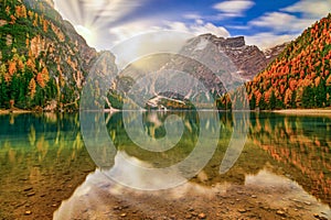
M 222 12 L 225 16 L 242 16 L 254 4 L 254 1 L 250 0 L 232 0 L 216 3 L 213 8 Z

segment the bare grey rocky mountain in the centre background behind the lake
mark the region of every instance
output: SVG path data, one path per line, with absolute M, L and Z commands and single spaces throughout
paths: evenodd
M 224 38 L 203 34 L 188 40 L 175 55 L 150 55 L 135 62 L 114 85 L 121 97 L 131 91 L 130 98 L 140 100 L 140 107 L 186 109 L 192 107 L 191 100 L 194 106 L 207 108 L 212 98 L 222 97 L 266 68 L 281 48 L 284 45 L 265 54 L 257 46 L 246 45 L 243 36 Z M 188 75 L 180 77 L 181 73 Z M 134 87 L 141 78 L 145 84 Z M 180 86 L 174 88 L 175 85 Z

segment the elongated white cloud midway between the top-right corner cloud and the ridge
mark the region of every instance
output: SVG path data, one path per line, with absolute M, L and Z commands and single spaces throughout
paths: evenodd
M 257 28 L 268 28 L 277 33 L 301 33 L 314 21 L 314 19 L 299 19 L 284 12 L 271 12 L 248 22 L 248 24 Z

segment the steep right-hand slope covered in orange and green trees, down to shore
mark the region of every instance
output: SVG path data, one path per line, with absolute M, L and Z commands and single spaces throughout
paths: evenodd
M 307 29 L 246 84 L 252 109 L 331 106 L 331 14 Z

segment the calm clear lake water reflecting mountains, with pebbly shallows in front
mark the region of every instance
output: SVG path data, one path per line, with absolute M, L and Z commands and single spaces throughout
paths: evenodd
M 180 121 L 164 125 L 170 116 Z M 99 117 L 90 116 L 96 122 Z M 102 117 L 116 152 L 86 147 L 78 114 L 0 116 L 0 219 L 331 218 L 330 116 L 188 111 Z M 243 147 L 233 141 L 238 135 L 247 138 Z M 95 138 L 96 145 L 104 143 Z M 163 148 L 148 148 L 158 140 Z M 124 186 L 154 189 L 168 183 L 169 176 L 147 175 L 139 167 L 181 163 L 199 144 L 212 155 L 189 182 L 150 191 Z M 106 165 L 98 168 L 98 160 Z M 188 170 L 197 161 L 185 164 Z

